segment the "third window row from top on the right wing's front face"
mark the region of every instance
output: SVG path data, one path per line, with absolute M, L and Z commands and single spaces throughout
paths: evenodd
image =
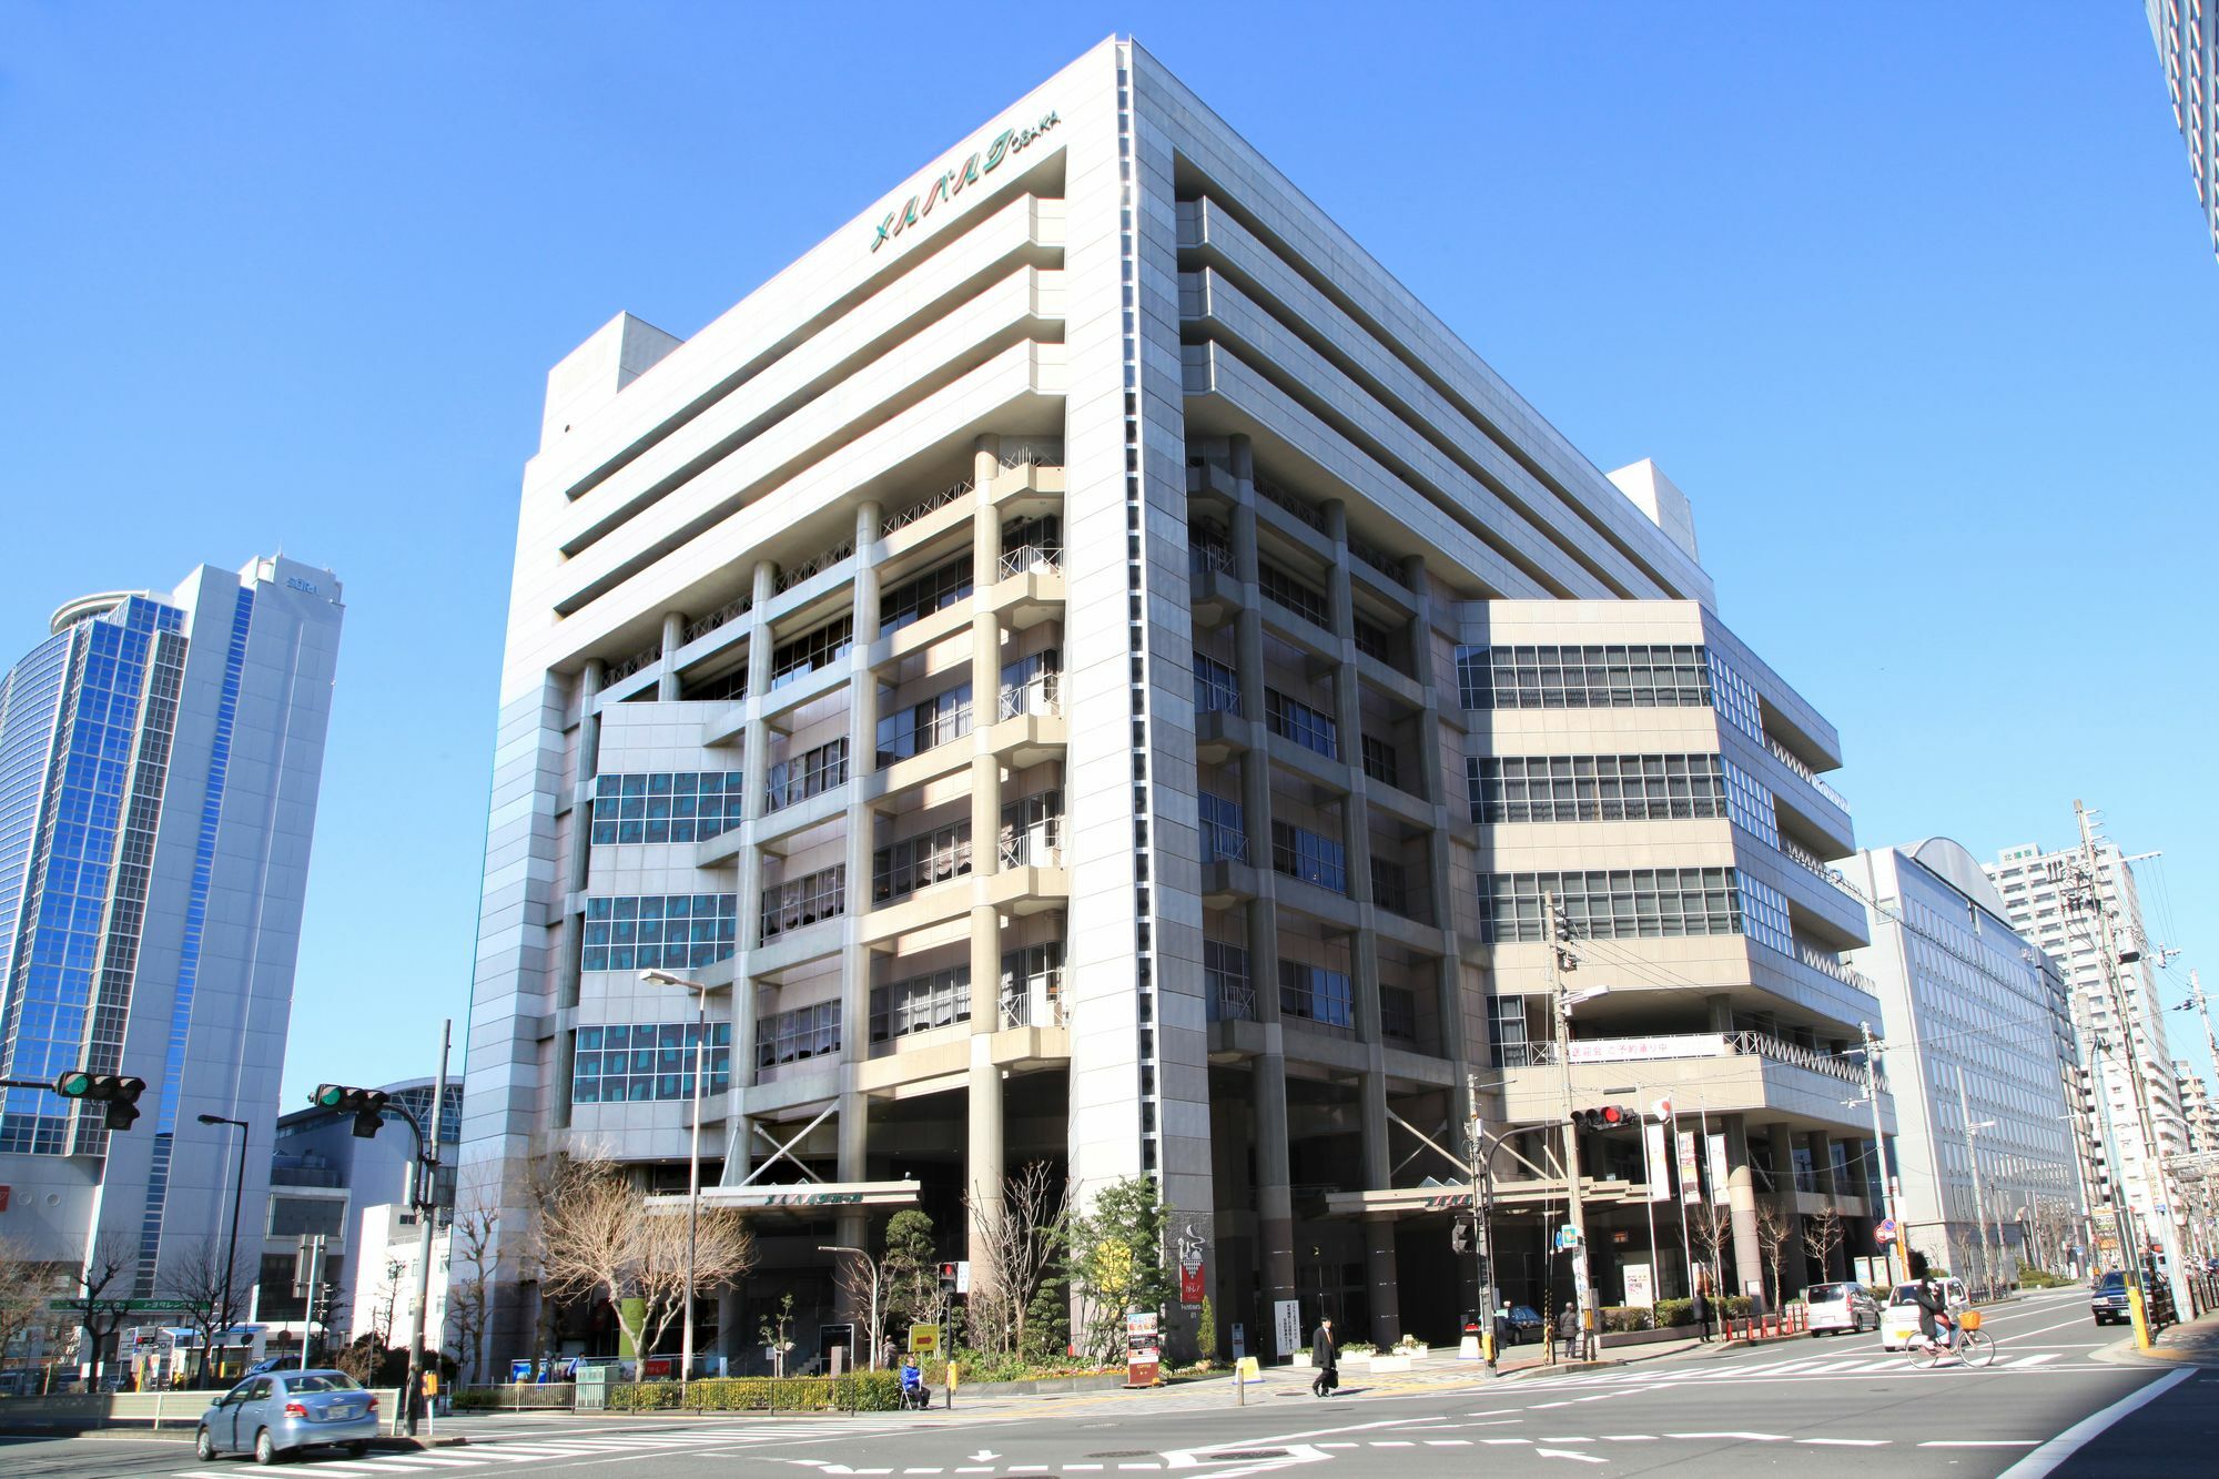
M 1482 873 L 1485 937 L 1496 944 L 1551 939 L 1542 913 L 1547 895 L 1556 895 L 1573 937 L 1584 939 L 1742 933 L 1733 868 L 1609 868 Z

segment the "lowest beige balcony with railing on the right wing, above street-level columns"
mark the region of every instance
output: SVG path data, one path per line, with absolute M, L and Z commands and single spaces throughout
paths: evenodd
M 1527 1044 L 1520 1064 L 1504 1068 L 1504 1117 L 1513 1124 L 1562 1119 L 1564 1066 L 1556 1044 Z M 1762 1115 L 1797 1130 L 1871 1137 L 1873 1115 L 1862 1104 L 1864 1066 L 1848 1057 L 1813 1053 L 1764 1033 L 1678 1033 L 1662 1037 L 1582 1037 L 1571 1044 L 1575 1104 L 1633 1099 L 1646 1106 L 1671 1097 L 1682 1124 L 1689 1115 Z M 1882 1097 L 1882 1124 L 1893 1133 L 1893 1104 Z

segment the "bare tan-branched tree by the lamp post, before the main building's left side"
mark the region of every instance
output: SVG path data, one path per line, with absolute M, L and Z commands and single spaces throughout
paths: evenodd
M 686 1217 L 650 1215 L 646 1195 L 612 1161 L 577 1161 L 539 1228 L 539 1279 L 553 1295 L 606 1299 L 626 1341 L 655 1350 L 686 1306 Z M 732 1210 L 699 1215 L 697 1288 L 754 1268 L 754 1237 Z M 626 1310 L 626 1301 L 637 1301 Z

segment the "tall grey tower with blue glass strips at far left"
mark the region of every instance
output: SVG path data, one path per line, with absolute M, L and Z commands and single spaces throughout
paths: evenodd
M 266 1193 L 342 615 L 331 571 L 202 566 L 62 606 L 0 693 L 0 1075 L 146 1081 L 124 1133 L 4 1090 L 0 1232 L 129 1246 L 126 1295 L 229 1230 L 237 1130 L 200 1115 Z

